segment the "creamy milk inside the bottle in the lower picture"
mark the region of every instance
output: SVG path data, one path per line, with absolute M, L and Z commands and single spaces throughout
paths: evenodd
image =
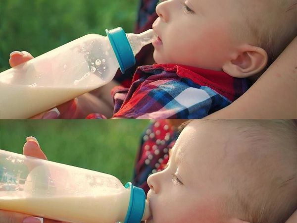
M 34 197 L 23 191 L 0 197 L 0 209 L 39 216 L 71 223 L 115 223 L 124 221 L 130 198 L 130 190 L 99 196 Z M 121 203 L 121 204 L 119 204 Z M 122 210 L 119 210 L 119 209 Z

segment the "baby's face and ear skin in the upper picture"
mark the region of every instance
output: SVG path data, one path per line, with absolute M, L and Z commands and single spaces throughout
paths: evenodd
M 234 21 L 246 24 L 237 5 L 237 0 L 166 0 L 158 4 L 159 17 L 152 25 L 159 37 L 152 43 L 156 63 L 223 70 L 234 77 L 249 77 L 262 70 L 267 64 L 266 52 L 251 38 L 238 38 L 232 31 Z

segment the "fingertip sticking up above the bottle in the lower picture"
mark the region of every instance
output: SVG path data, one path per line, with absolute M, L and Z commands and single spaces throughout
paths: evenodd
M 44 152 L 41 150 L 37 139 L 33 136 L 27 137 L 23 147 L 23 154 L 30 157 L 36 157 L 43 160 L 48 160 Z

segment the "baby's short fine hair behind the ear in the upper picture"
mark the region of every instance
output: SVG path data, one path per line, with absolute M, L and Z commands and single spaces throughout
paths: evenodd
M 260 1 L 258 2 L 260 4 Z M 268 64 L 284 51 L 288 44 L 297 36 L 297 2 L 296 0 L 266 0 L 261 2 L 262 11 L 256 8 L 257 16 L 250 15 L 246 9 L 242 14 L 246 26 L 236 30 L 239 38 L 247 35 L 254 40 L 257 47 L 263 48 L 268 55 Z M 244 30 L 242 29 L 244 28 Z

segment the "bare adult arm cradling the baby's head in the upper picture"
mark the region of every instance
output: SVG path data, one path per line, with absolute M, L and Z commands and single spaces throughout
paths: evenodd
M 297 37 L 234 103 L 206 118 L 297 118 Z

